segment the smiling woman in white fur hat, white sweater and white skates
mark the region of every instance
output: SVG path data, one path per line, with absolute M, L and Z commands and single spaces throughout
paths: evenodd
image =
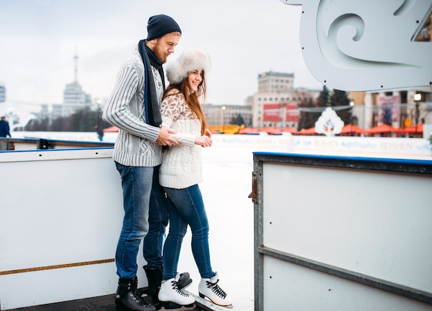
M 201 281 L 199 296 L 217 305 L 231 305 L 232 299 L 217 285 L 218 274 L 210 264 L 208 220 L 198 183 L 202 182 L 201 148 L 212 144 L 211 133 L 200 100 L 206 97 L 205 73 L 210 58 L 202 48 L 188 48 L 176 62 L 168 64 L 170 85 L 161 103 L 162 126 L 177 131 L 180 143 L 164 151 L 159 182 L 168 198 L 170 230 L 164 245 L 164 275 L 159 301 L 166 308 L 193 305 L 193 296 L 177 288 L 177 264 L 181 242 L 188 225 L 192 231 L 192 251 Z M 184 310 L 184 309 L 182 309 Z

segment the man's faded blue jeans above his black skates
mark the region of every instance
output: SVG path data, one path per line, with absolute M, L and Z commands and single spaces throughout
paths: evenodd
M 115 164 L 121 176 L 124 206 L 115 263 L 120 278 L 132 279 L 137 275 L 137 254 L 144 237 L 144 258 L 148 265 L 162 265 L 162 241 L 168 224 L 166 198 L 159 186 L 159 167 Z

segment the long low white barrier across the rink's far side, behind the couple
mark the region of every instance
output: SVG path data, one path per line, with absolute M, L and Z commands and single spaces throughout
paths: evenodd
M 13 138 L 43 138 L 97 142 L 93 132 L 13 132 Z M 105 133 L 104 142 L 115 142 L 117 133 Z M 426 138 L 368 138 L 317 135 L 213 135 L 217 147 L 247 148 L 250 151 L 281 151 L 343 156 L 386 158 L 431 158 Z

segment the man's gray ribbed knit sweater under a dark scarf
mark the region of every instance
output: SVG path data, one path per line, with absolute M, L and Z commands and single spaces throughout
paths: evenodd
M 157 100 L 161 102 L 164 86 L 156 68 L 151 66 Z M 161 147 L 156 143 L 159 128 L 146 123 L 144 109 L 144 64 L 138 48 L 119 70 L 102 118 L 119 128 L 112 159 L 134 167 L 155 167 L 161 164 Z

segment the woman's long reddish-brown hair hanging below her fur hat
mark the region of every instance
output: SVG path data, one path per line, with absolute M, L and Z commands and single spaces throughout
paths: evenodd
M 164 99 L 165 99 L 168 91 L 172 90 L 173 88 L 177 89 L 179 92 L 183 94 L 184 100 L 186 101 L 186 104 L 188 105 L 189 109 L 193 111 L 193 113 L 195 113 L 199 122 L 201 122 L 201 135 L 204 135 L 204 132 L 206 131 L 207 128 L 206 116 L 204 115 L 204 111 L 202 111 L 202 106 L 199 103 L 200 98 L 202 99 L 203 102 L 206 99 L 206 78 L 205 77 L 206 75 L 203 70 L 202 82 L 199 84 L 197 91 L 195 91 L 194 93 L 190 93 L 188 88 L 188 77 L 186 77 L 183 80 L 181 80 L 179 84 L 168 85 L 168 88 L 166 88 L 166 93 L 164 95 Z

